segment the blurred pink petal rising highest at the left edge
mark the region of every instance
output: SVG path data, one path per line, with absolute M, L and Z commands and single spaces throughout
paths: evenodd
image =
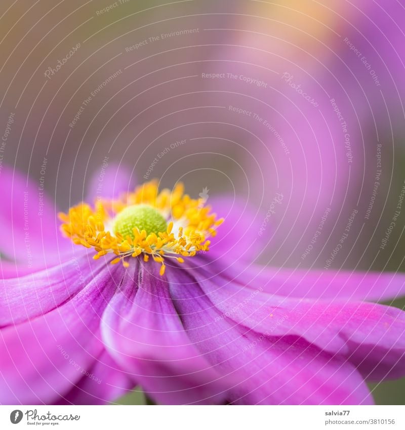
M 3 166 L 0 252 L 9 260 L 28 267 L 59 261 L 69 252 L 71 242 L 59 232 L 55 204 L 17 171 Z M 39 205 L 40 199 L 41 206 Z M 4 259 L 4 258 L 3 258 Z

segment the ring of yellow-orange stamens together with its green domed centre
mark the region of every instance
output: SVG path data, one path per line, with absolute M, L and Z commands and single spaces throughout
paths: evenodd
M 82 203 L 60 213 L 61 230 L 74 244 L 94 248 L 94 259 L 112 254 L 110 261 L 129 266 L 126 257 L 143 255 L 144 261 L 160 262 L 165 273 L 165 259 L 192 257 L 208 251 L 209 237 L 223 222 L 212 214 L 201 199 L 184 194 L 182 184 L 173 191 L 158 191 L 158 182 L 147 182 L 120 199 L 98 200 L 94 209 Z M 176 226 L 176 227 L 175 227 Z

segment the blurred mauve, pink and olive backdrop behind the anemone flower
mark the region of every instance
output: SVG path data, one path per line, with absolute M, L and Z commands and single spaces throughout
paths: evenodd
M 402 0 L 2 0 L 0 24 L 0 181 L 33 205 L 126 168 L 249 205 L 263 264 L 405 270 Z

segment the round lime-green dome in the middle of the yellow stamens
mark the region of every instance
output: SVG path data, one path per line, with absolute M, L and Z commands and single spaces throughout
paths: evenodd
M 149 205 L 132 205 L 119 212 L 113 219 L 113 230 L 127 238 L 135 239 L 134 227 L 146 234 L 166 231 L 168 224 L 164 216 Z

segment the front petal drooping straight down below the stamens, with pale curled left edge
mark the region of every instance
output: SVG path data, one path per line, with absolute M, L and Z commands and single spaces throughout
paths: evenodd
M 156 264 L 131 267 L 104 312 L 102 335 L 115 361 L 157 402 L 217 403 L 224 397 L 218 374 L 184 332 Z

